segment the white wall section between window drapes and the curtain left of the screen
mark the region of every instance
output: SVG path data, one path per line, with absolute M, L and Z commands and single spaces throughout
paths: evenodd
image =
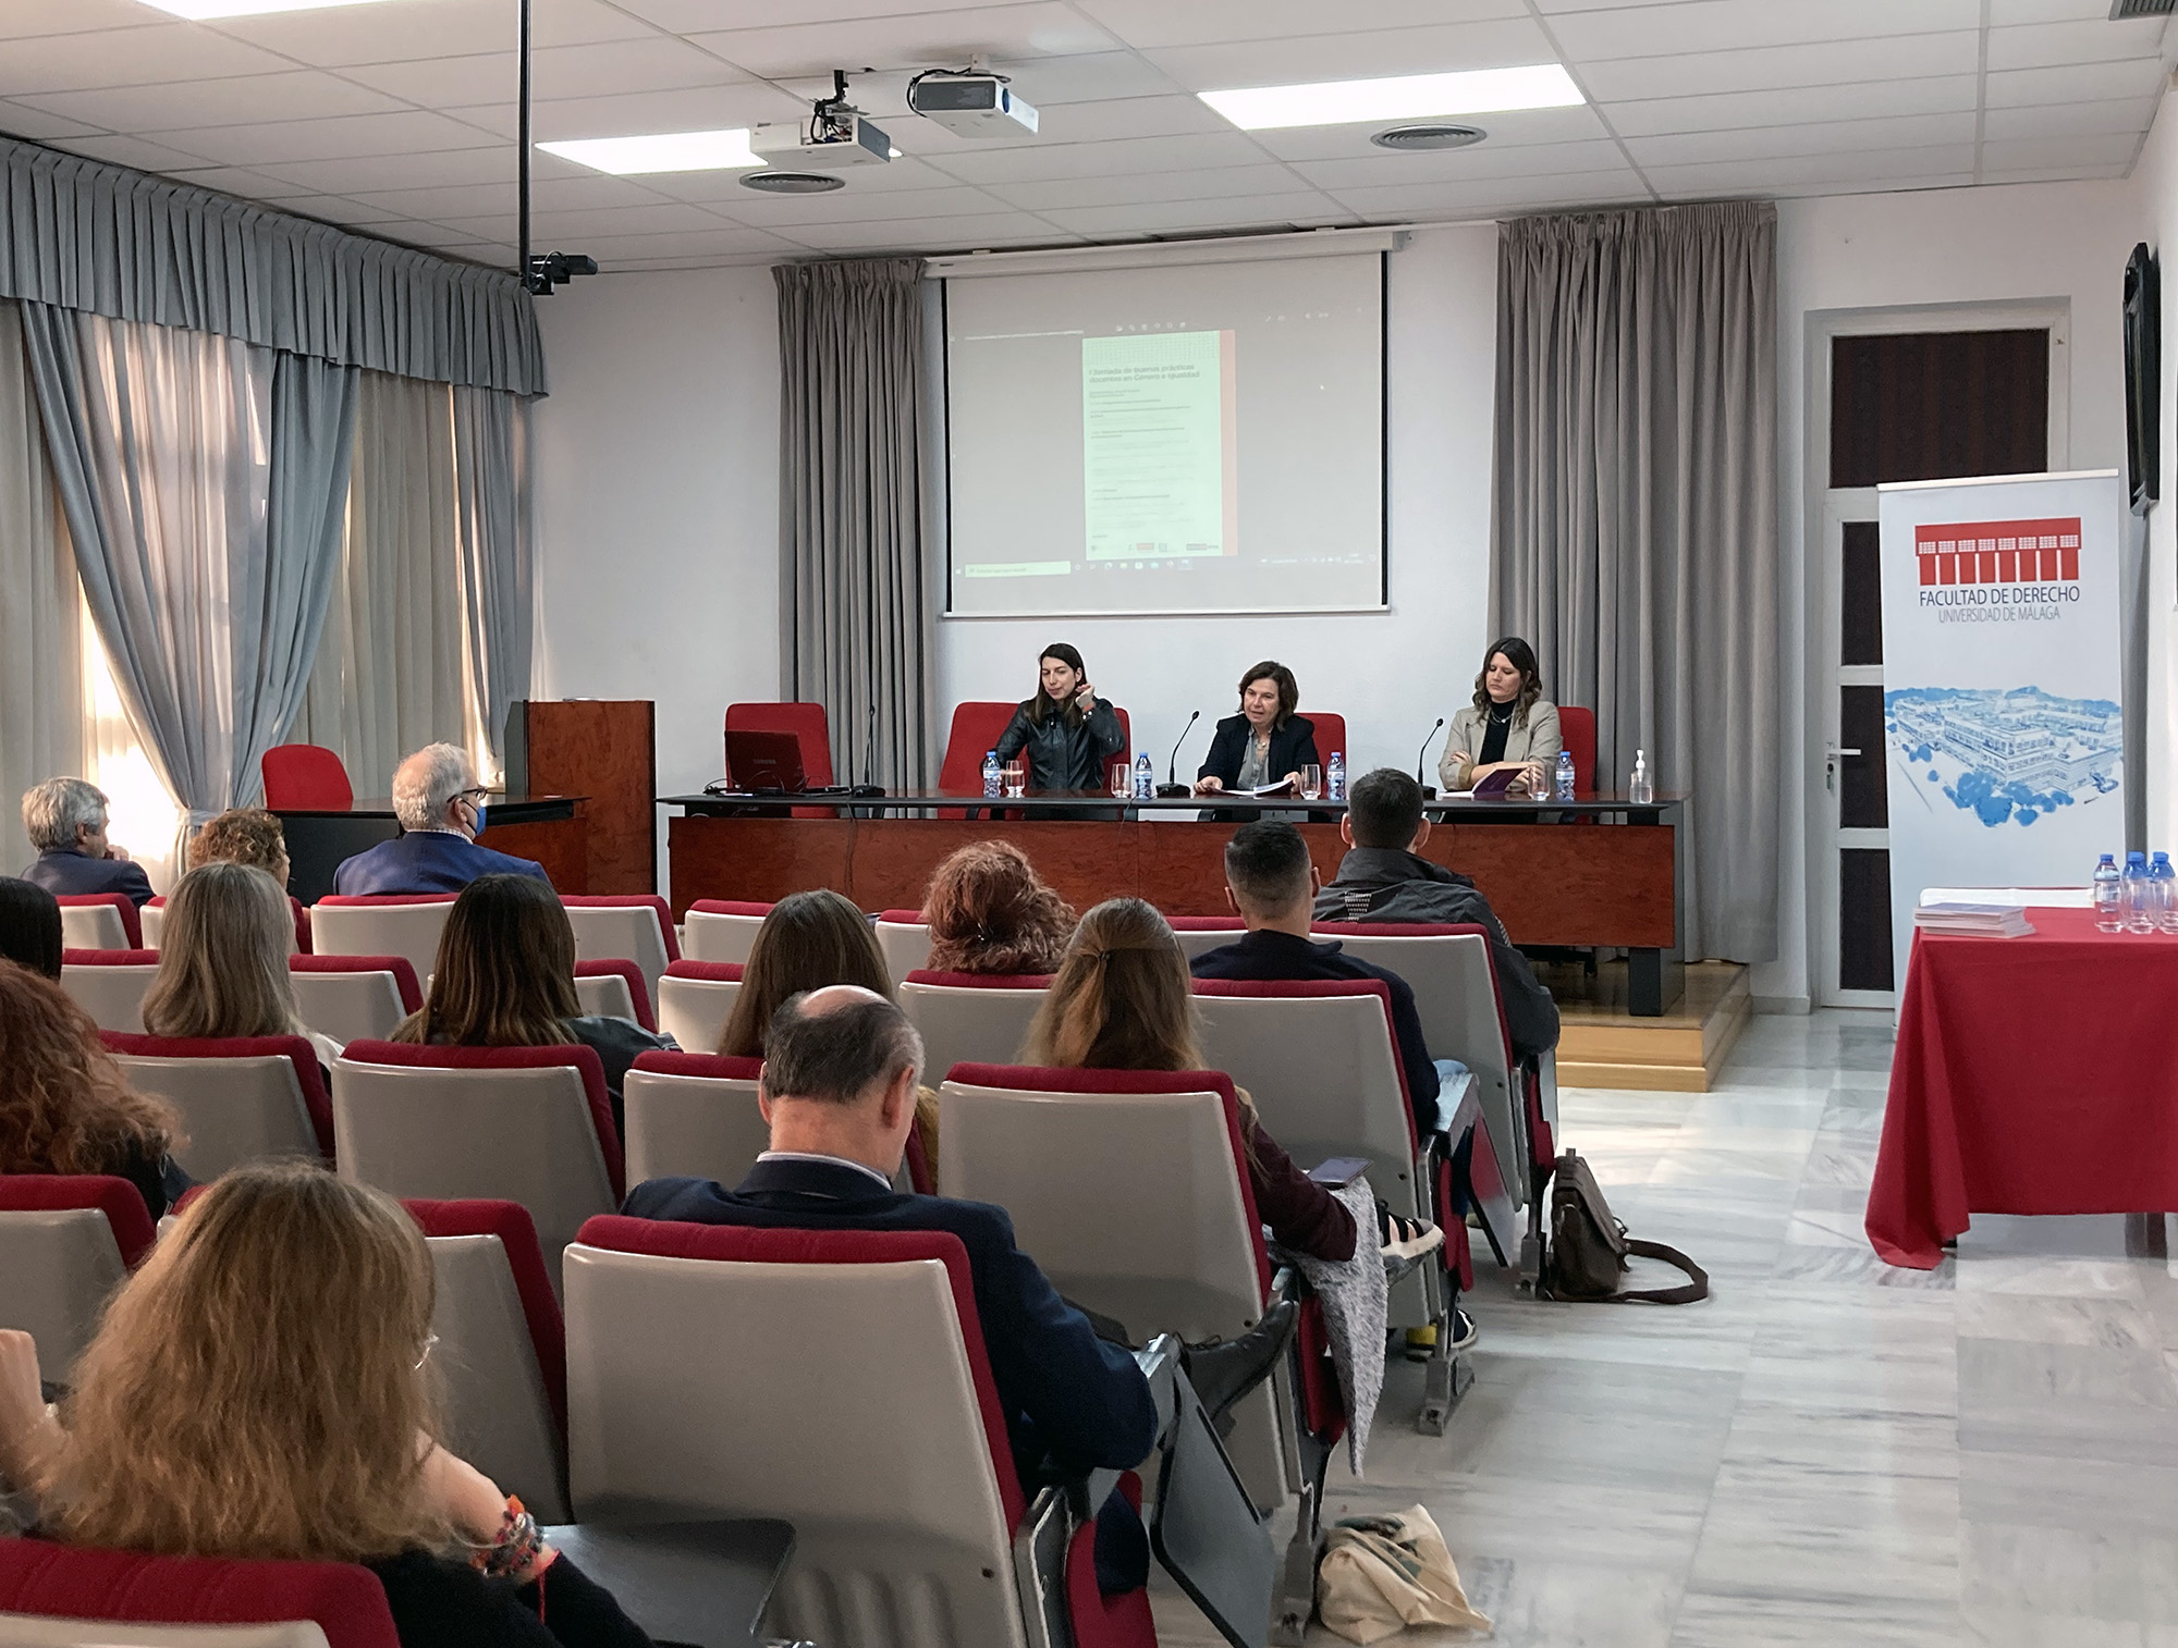
M 771 270 L 603 274 L 538 316 L 534 692 L 656 699 L 660 795 L 699 790 L 725 705 L 780 692 Z

